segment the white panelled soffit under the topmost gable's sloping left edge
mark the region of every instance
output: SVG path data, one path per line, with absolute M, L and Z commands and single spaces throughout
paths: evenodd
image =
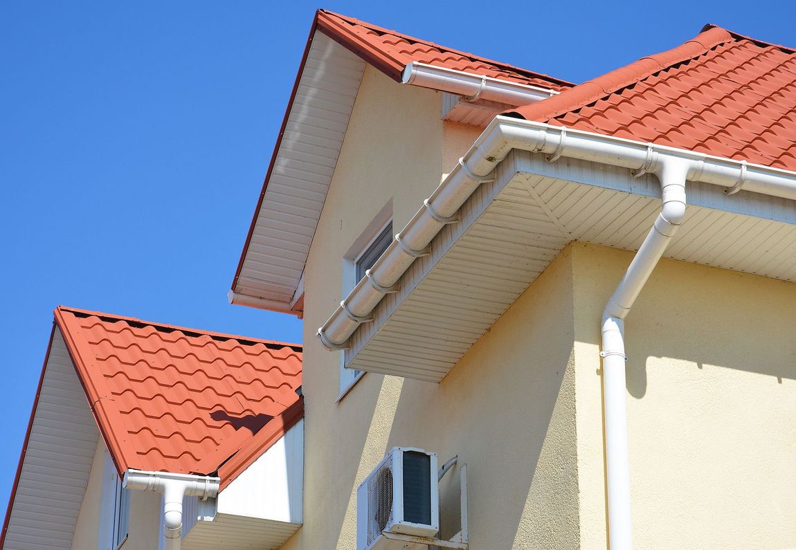
M 316 32 L 233 291 L 290 310 L 365 61 Z

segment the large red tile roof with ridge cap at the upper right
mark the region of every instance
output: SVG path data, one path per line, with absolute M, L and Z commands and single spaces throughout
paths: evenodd
M 675 49 L 508 114 L 796 170 L 794 54 L 708 25 Z

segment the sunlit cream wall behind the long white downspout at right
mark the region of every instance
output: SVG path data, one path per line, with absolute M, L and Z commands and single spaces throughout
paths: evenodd
M 572 246 L 579 513 L 605 548 L 599 317 L 630 252 Z M 626 320 L 637 548 L 796 547 L 796 285 L 662 261 Z

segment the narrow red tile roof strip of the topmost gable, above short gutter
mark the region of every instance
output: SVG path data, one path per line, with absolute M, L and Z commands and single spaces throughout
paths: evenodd
M 417 61 L 553 90 L 574 85 L 566 80 L 474 56 L 472 53 L 459 52 L 326 10 L 318 10 L 316 21 L 317 28 L 322 33 L 398 81 L 404 67 Z

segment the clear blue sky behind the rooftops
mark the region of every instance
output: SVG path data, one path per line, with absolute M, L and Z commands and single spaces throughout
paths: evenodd
M 58 304 L 301 341 L 226 292 L 317 7 L 0 3 L 0 518 Z M 793 0 L 323 7 L 575 82 L 705 23 L 796 46 Z

